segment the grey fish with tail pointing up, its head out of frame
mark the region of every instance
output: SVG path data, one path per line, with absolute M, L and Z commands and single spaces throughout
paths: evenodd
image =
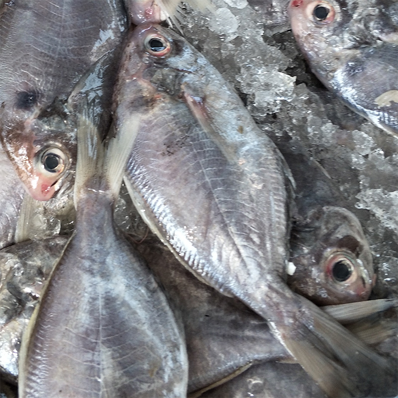
M 186 395 L 183 331 L 113 221 L 131 132 L 105 150 L 91 114 L 80 117 L 75 229 L 22 337 L 21 398 Z

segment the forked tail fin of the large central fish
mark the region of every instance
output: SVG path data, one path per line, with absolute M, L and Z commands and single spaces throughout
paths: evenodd
M 328 397 L 385 397 L 386 386 L 397 388 L 397 372 L 386 358 L 315 304 L 296 298 L 301 315 L 296 324 L 279 327 L 270 322 L 271 327 Z

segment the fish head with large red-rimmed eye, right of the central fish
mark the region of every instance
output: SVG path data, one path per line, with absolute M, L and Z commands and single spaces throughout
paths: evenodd
M 369 298 L 375 283 L 373 259 L 355 215 L 342 208 L 313 210 L 294 229 L 290 287 L 319 305 Z

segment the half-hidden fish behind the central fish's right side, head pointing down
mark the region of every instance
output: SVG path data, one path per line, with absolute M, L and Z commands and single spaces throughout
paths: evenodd
M 296 182 L 288 285 L 317 305 L 369 298 L 373 257 L 352 204 L 297 139 L 275 139 Z

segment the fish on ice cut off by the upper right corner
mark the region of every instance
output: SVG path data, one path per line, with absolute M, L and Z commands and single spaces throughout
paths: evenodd
M 321 83 L 395 136 L 397 11 L 391 0 L 292 0 L 288 9 L 298 46 Z

